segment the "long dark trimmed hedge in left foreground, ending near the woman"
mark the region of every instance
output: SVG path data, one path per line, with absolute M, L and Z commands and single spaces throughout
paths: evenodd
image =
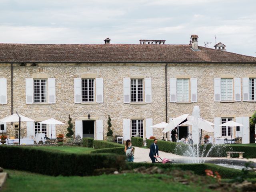
M 118 154 L 74 154 L 52 152 L 24 146 L 0 146 L 0 166 L 51 176 L 89 176 L 95 169 L 121 168 L 125 156 Z

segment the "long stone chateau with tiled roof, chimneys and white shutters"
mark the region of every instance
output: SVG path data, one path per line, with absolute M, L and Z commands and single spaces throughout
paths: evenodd
M 255 87 L 255 57 L 227 52 L 222 43 L 198 46 L 197 35 L 186 45 L 110 44 L 109 38 L 105 44 L 0 44 L 0 118 L 18 111 L 36 120 L 22 123 L 24 138 L 66 134 L 68 125 L 38 122 L 56 118 L 67 124 L 69 114 L 75 134 L 83 137 L 106 139 L 110 114 L 114 135 L 124 140 L 136 133 L 162 138 L 162 129 L 152 124 L 191 114 L 197 105 L 201 117 L 214 122 L 210 134 L 216 140 L 232 134 L 249 143 Z M 244 127 L 237 132 L 219 126 L 228 120 Z M 188 130 L 179 127 L 180 138 Z M 3 132 L 15 136 L 18 124 L 5 123 Z

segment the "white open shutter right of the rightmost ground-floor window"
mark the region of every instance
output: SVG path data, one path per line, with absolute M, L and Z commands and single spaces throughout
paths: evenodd
M 248 144 L 250 143 L 250 122 L 249 117 L 237 117 L 236 122 L 243 124 L 244 126 L 240 127 L 240 130 L 242 129 L 242 135 L 240 135 L 241 131 L 239 133 L 239 137 L 242 137 L 242 143 Z

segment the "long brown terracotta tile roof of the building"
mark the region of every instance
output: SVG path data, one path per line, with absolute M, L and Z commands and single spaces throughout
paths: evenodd
M 169 44 L 0 44 L 0 62 L 230 62 L 256 57 Z

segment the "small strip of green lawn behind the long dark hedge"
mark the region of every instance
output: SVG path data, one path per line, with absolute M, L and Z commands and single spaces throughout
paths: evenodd
M 31 148 L 48 150 L 55 152 L 67 152 L 67 153 L 80 153 L 80 154 L 89 154 L 93 148 L 88 147 L 73 147 L 73 146 L 33 146 Z

